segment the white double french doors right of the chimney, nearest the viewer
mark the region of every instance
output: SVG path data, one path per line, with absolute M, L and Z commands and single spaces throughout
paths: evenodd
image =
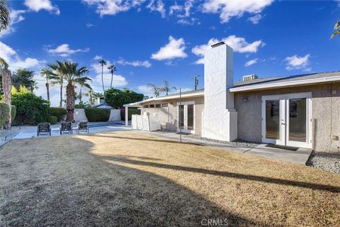
M 262 142 L 312 148 L 312 94 L 262 96 Z

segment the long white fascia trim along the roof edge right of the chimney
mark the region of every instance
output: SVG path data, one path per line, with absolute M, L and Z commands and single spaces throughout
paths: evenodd
M 291 87 L 296 85 L 303 85 L 303 84 L 317 84 L 317 83 L 324 83 L 324 82 L 334 82 L 340 81 L 340 76 L 334 77 L 322 77 L 322 78 L 313 78 L 313 79 L 300 79 L 294 81 L 286 81 L 286 82 L 276 82 L 276 83 L 266 83 L 263 82 L 262 84 L 250 84 L 240 87 L 232 87 L 229 89 L 230 92 L 243 92 L 249 90 L 260 90 L 260 89 L 268 89 L 268 88 L 276 88 L 276 87 Z

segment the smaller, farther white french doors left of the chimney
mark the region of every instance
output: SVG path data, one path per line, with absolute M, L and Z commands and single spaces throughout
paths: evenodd
M 183 133 L 195 133 L 195 102 L 185 101 L 181 105 L 178 102 L 177 106 L 178 127 L 181 127 Z M 179 131 L 179 128 L 177 131 Z

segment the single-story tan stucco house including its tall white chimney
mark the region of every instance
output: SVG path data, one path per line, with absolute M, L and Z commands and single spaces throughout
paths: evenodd
M 340 72 L 252 74 L 234 82 L 233 51 L 223 42 L 205 52 L 204 89 L 183 92 L 181 105 L 180 95 L 170 94 L 126 104 L 125 114 L 128 107 L 157 114 L 166 131 L 181 125 L 183 132 L 217 140 L 340 149 Z

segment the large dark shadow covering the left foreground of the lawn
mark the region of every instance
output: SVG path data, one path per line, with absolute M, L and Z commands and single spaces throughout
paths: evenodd
M 13 140 L 0 148 L 1 226 L 201 226 L 211 218 L 227 219 L 229 226 L 265 225 L 224 211 L 166 177 L 106 162 L 91 153 L 88 140 L 27 143 Z M 18 148 L 26 150 L 18 154 Z M 15 165 L 4 167 L 10 162 Z

